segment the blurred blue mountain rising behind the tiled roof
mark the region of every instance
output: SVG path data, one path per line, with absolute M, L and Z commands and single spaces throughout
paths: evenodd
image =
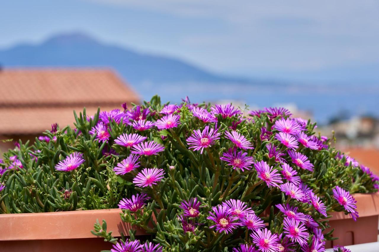
M 3 67 L 111 67 L 132 84 L 193 81 L 251 82 L 249 79 L 210 73 L 179 59 L 103 44 L 83 33 L 62 34 L 51 37 L 42 44 L 19 44 L 0 50 L 0 65 Z

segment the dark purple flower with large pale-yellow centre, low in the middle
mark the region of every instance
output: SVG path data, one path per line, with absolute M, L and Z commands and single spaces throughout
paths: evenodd
M 226 234 L 233 232 L 240 223 L 238 223 L 238 217 L 233 216 L 231 210 L 224 205 L 217 205 L 216 207 L 212 207 L 213 212 L 209 212 L 210 215 L 207 219 L 215 222 L 214 225 L 210 226 L 210 228 L 215 227 L 216 231 L 222 233 L 225 231 Z

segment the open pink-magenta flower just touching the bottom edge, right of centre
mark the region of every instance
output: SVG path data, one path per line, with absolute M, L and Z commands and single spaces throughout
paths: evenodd
M 258 246 L 263 252 L 276 252 L 279 248 L 279 240 L 276 234 L 271 233 L 268 229 L 258 229 L 250 236 L 253 238 L 253 243 Z

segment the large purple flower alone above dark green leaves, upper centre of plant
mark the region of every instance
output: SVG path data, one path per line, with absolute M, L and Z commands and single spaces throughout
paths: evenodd
M 193 148 L 194 151 L 200 150 L 200 154 L 202 154 L 204 148 L 210 147 L 215 144 L 217 139 L 220 139 L 219 135 L 221 133 L 218 133 L 217 130 L 209 130 L 209 126 L 205 126 L 203 131 L 200 131 L 200 129 L 194 130 L 193 134 L 187 138 L 187 143 L 190 149 Z

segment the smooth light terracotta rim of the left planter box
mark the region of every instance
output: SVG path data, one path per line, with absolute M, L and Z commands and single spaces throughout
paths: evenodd
M 0 215 L 0 241 L 9 240 L 55 240 L 75 238 L 95 238 L 92 235 L 94 223 L 99 219 L 107 222 L 107 232 L 112 235 L 125 235 L 131 228 L 120 218 L 119 208 L 103 210 L 79 210 L 49 213 L 13 213 Z M 136 229 L 136 235 L 144 235 L 143 229 Z

